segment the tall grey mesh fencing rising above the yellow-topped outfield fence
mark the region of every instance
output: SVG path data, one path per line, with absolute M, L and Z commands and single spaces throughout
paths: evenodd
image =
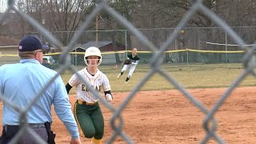
M 246 46 L 253 46 L 254 39 L 256 39 L 256 26 L 243 26 L 243 27 L 231 27 L 238 35 L 242 35 L 244 41 L 248 42 Z M 156 47 L 162 46 L 166 42 L 169 34 L 175 31 L 174 28 L 154 28 L 154 29 L 138 29 L 146 38 L 150 40 Z M 186 27 L 184 34 L 179 33 L 174 38 L 174 42 L 169 43 L 166 50 L 240 50 L 238 44 L 231 41 L 230 36 L 222 30 L 221 27 Z M 72 35 L 76 35 L 78 31 L 52 31 L 55 38 L 62 43 L 69 42 Z M 139 50 L 150 50 L 146 45 L 139 41 L 134 34 L 131 34 L 130 30 L 86 30 L 83 31 L 82 36 L 77 39 L 74 45 L 75 47 L 86 44 L 86 42 L 95 42 L 95 34 L 98 34 L 98 42 L 117 42 L 121 44 L 122 50 L 129 50 L 130 47 L 138 47 Z M 1 33 L 0 38 L 6 38 L 9 40 L 8 45 L 17 45 L 18 40 L 28 34 L 34 34 L 42 38 L 42 42 L 49 44 L 44 35 L 41 32 L 24 32 L 24 33 Z M 111 38 L 112 35 L 114 38 Z M 64 38 L 66 35 L 69 38 Z M 8 39 L 10 38 L 10 39 Z M 4 49 L 6 46 L 0 47 Z M 100 47 L 101 48 L 101 47 Z

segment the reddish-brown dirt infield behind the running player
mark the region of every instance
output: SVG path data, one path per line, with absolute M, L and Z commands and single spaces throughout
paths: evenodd
M 217 134 L 226 143 L 256 143 L 256 87 L 234 90 L 219 108 Z M 218 101 L 226 88 L 188 90 L 208 110 Z M 120 106 L 128 93 L 114 93 L 114 107 Z M 75 95 L 70 96 L 74 106 Z M 109 120 L 112 116 L 106 106 L 101 105 L 105 118 L 103 143 L 113 134 Z M 2 114 L 1 114 L 2 115 Z M 54 114 L 54 132 L 57 143 L 69 143 L 70 136 L 62 122 Z M 202 128 L 205 114 L 188 101 L 178 90 L 139 92 L 122 111 L 123 131 L 135 143 L 199 143 L 206 136 Z M 90 140 L 82 138 L 82 143 Z M 121 137 L 114 143 L 126 143 Z M 218 143 L 213 139 L 208 143 Z

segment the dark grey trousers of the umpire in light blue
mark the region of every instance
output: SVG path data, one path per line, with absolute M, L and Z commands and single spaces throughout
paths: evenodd
M 30 127 L 37 133 L 42 140 L 47 142 L 48 134 L 46 131 L 46 126 L 42 123 L 40 124 L 30 124 Z M 3 126 L 2 128 L 2 136 L 0 138 L 0 144 L 7 144 L 10 142 L 12 138 L 18 133 L 19 126 Z M 29 134 L 25 133 L 22 134 L 22 138 L 18 141 L 19 144 L 34 144 L 37 143 L 34 137 Z

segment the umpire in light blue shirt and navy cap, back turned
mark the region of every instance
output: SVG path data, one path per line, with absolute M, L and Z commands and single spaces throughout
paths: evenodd
M 48 49 L 48 46 L 42 45 L 37 36 L 27 36 L 19 42 L 18 56 L 21 58 L 20 62 L 0 66 L 1 97 L 18 106 L 25 113 L 24 116 L 10 105 L 3 103 L 3 129 L 0 143 L 10 142 L 15 134 L 18 134 L 21 126 L 24 126 L 24 123 L 27 123 L 27 126 L 34 130 L 34 134 L 38 134 L 43 141 L 54 143 L 55 134 L 50 130 L 50 124 L 53 121 L 52 104 L 54 104 L 58 118 L 62 120 L 71 135 L 70 143 L 81 143 L 66 88 L 59 75 L 40 94 L 34 104 L 29 108 L 27 107 L 38 92 L 46 86 L 47 82 L 50 82 L 57 75 L 54 70 L 41 65 L 42 55 Z M 27 108 L 28 110 L 25 112 Z M 38 141 L 26 129 L 18 143 L 30 144 L 38 143 Z

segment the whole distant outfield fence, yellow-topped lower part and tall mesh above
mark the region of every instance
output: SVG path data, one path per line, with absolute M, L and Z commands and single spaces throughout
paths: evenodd
M 241 26 L 241 27 L 231 27 L 238 35 L 242 35 L 243 39 L 248 46 L 252 46 L 256 35 L 255 26 Z M 154 42 L 154 46 L 159 50 L 161 46 L 166 43 L 166 39 L 170 34 L 174 32 L 174 28 L 159 28 L 159 29 L 140 29 L 142 34 Z M 123 61 L 126 58 L 126 53 L 130 50 L 130 47 L 137 47 L 138 53 L 142 58 L 142 63 L 150 62 L 154 51 L 150 50 L 145 44 L 139 41 L 138 38 L 130 30 L 88 30 L 82 33 L 82 36 L 78 38 L 75 42 L 73 54 L 71 54 L 71 63 L 74 66 L 81 66 L 83 62 L 83 53 L 85 50 L 76 51 L 76 48 L 82 45 L 86 45 L 89 42 L 95 42 L 96 32 L 98 33 L 98 42 L 117 42 L 121 44 L 122 50 L 102 50 L 103 58 L 105 59 L 103 65 L 119 63 L 118 61 Z M 46 41 L 45 36 L 40 32 L 30 32 L 30 33 L 13 33 L 6 34 L 0 33 L 0 37 L 18 39 L 28 35 L 35 34 L 42 38 L 45 44 L 51 46 L 52 50 L 47 55 L 52 55 L 56 62 L 58 62 L 59 53 L 55 54 L 56 46 L 50 44 Z M 68 38 L 67 35 L 75 36 L 78 31 L 62 31 L 62 32 L 51 32 L 50 34 L 58 39 Z M 114 38 L 112 37 L 115 35 Z M 130 41 L 128 40 L 130 37 Z M 69 42 L 70 39 L 65 39 L 64 41 Z M 129 42 L 128 42 L 129 41 Z M 129 43 L 129 44 L 128 44 Z M 1 51 L 1 63 L 12 63 L 18 62 L 18 58 L 13 58 L 16 51 L 17 43 L 13 43 L 12 46 L 0 46 Z M 129 46 L 128 46 L 129 45 Z M 103 46 L 103 45 L 102 45 Z M 110 43 L 111 47 L 114 47 Z M 86 47 L 84 47 L 86 49 Z M 79 52 L 79 53 L 75 53 Z M 106 52 L 104 54 L 104 52 Z M 116 58 L 116 54 L 118 58 Z M 11 54 L 11 55 L 9 55 Z M 13 55 L 14 54 L 14 55 Z M 244 51 L 240 46 L 235 44 L 230 36 L 221 27 L 189 27 L 184 29 L 184 32 L 178 32 L 177 38 L 174 39 L 167 47 L 164 54 L 162 54 L 162 62 L 178 62 L 178 63 L 234 63 L 242 62 L 242 57 Z M 7 58 L 11 57 L 11 58 Z M 18 56 L 17 56 L 18 57 Z

